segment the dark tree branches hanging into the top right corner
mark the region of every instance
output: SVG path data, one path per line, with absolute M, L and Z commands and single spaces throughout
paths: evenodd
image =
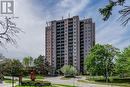
M 122 6 L 123 9 L 119 10 L 119 13 L 121 14 L 121 21 L 122 25 L 126 25 L 128 21 L 130 20 L 130 6 L 124 6 L 126 0 L 109 0 L 108 5 L 106 5 L 104 8 L 100 8 L 99 11 L 103 16 L 103 20 L 106 21 L 110 18 L 112 15 L 112 10 L 114 7 Z

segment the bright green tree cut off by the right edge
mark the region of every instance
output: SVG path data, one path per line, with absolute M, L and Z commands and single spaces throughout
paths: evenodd
M 130 46 L 118 55 L 115 70 L 121 78 L 130 74 Z

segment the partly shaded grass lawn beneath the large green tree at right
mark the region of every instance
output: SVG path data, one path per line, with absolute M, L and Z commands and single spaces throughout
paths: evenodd
M 106 83 L 103 77 L 93 77 L 93 78 L 87 77 L 86 80 L 78 80 L 78 82 L 130 87 L 130 78 L 121 79 L 118 77 L 111 77 L 110 82 Z

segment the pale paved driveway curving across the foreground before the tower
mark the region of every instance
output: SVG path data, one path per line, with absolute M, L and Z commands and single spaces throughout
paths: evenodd
M 52 83 L 56 84 L 75 85 L 78 87 L 119 87 L 119 86 L 98 85 L 98 84 L 77 82 L 77 80 L 79 80 L 80 78 L 69 80 L 61 80 L 60 78 L 61 77 L 46 77 L 45 80 L 51 81 Z

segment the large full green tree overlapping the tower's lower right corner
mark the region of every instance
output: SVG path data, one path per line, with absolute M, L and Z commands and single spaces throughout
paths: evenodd
M 114 56 L 117 49 L 111 45 L 96 44 L 85 60 L 85 68 L 90 75 L 103 75 L 108 82 L 114 71 Z

